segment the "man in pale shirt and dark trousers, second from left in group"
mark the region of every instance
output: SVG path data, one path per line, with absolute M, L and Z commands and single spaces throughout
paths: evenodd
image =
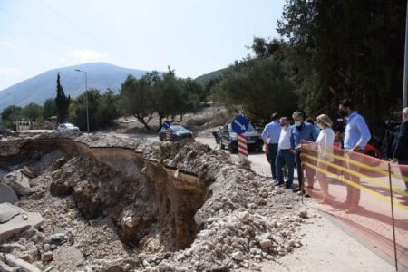
M 295 139 L 292 134 L 287 117 L 280 119 L 279 141 L 277 143 L 277 185 L 285 184 L 287 189 L 291 189 L 293 183 L 293 168 L 295 159 Z M 287 165 L 287 181 L 284 183 L 282 167 Z

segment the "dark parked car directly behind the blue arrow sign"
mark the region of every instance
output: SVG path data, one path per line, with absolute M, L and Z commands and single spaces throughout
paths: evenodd
M 218 133 L 213 133 L 216 137 L 219 135 L 219 144 L 221 149 L 228 148 L 231 153 L 238 152 L 238 140 L 237 133 L 232 131 L 231 123 L 226 123 L 219 129 Z M 262 151 L 263 141 L 259 133 L 255 130 L 252 124 L 249 123 L 247 132 L 244 133 L 247 136 L 248 150 Z

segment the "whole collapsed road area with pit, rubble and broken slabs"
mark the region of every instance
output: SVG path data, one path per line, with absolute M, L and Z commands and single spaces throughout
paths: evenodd
M 296 195 L 198 142 L 4 138 L 0 169 L 3 269 L 257 270 L 302 245 Z

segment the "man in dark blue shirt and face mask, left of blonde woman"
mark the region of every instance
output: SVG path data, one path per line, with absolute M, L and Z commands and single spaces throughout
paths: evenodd
M 299 187 L 293 189 L 294 192 L 303 190 L 303 170 L 302 170 L 302 161 L 301 161 L 301 143 L 302 141 L 316 141 L 318 133 L 315 129 L 315 126 L 304 121 L 304 116 L 302 112 L 293 112 L 292 118 L 295 121 L 294 126 L 292 127 L 292 134 L 295 139 L 296 145 L 296 169 L 297 169 L 297 180 L 299 181 Z M 315 176 L 315 170 L 310 168 L 306 169 L 306 177 L 309 181 L 309 186 L 312 187 L 313 179 Z

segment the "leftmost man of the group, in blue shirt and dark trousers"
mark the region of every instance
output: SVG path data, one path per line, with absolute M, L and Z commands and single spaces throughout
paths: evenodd
M 270 163 L 270 170 L 272 172 L 272 179 L 277 180 L 277 142 L 279 141 L 281 127 L 278 121 L 279 115 L 277 113 L 273 113 L 271 119 L 272 121 L 265 126 L 261 136 L 265 144 L 267 144 L 267 156 Z

